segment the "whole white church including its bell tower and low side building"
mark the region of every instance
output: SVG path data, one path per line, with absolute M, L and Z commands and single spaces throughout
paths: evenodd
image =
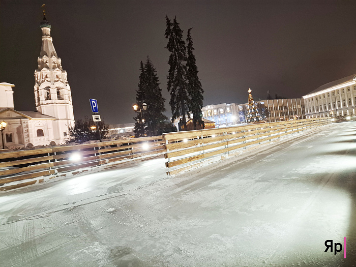
M 0 83 L 0 122 L 5 122 L 0 149 L 55 145 L 65 143 L 68 126 L 74 125 L 71 88 L 67 72 L 62 68 L 50 35 L 51 24 L 45 15 L 40 23 L 42 47 L 35 70 L 35 102 L 37 111 L 14 109 L 11 83 Z

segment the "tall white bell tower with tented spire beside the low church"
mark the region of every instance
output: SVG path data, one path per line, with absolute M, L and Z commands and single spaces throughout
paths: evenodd
M 57 118 L 53 132 L 57 144 L 67 139 L 68 126 L 74 126 L 71 88 L 67 72 L 62 69 L 61 58 L 55 52 L 50 35 L 51 24 L 43 12 L 42 47 L 35 71 L 35 101 L 38 112 Z

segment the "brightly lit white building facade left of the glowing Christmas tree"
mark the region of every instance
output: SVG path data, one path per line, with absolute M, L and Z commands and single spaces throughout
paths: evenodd
M 238 105 L 235 103 L 207 105 L 201 109 L 201 112 L 203 118 L 215 122 L 216 128 L 240 123 Z

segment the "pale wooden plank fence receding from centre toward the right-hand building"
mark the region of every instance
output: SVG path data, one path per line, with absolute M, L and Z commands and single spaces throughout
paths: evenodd
M 239 127 L 163 134 L 167 174 L 179 174 L 212 161 L 255 149 L 281 136 L 330 124 L 329 118 L 249 124 Z M 199 162 L 197 162 L 199 161 Z

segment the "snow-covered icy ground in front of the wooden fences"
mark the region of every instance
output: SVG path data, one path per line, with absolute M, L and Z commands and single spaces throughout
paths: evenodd
M 332 124 L 174 177 L 158 158 L 1 193 L 0 265 L 352 266 L 355 200 L 356 123 Z

